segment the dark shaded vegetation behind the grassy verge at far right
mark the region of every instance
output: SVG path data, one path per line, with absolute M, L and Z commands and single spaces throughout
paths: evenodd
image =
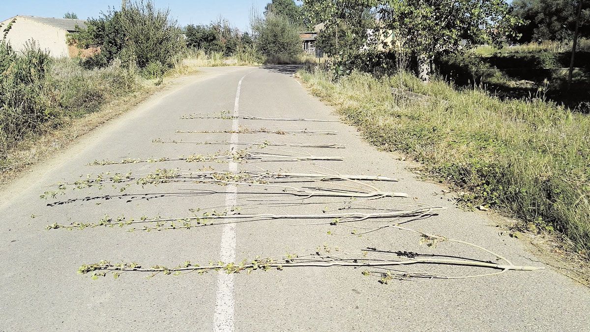
M 502 99 L 529 96 L 553 100 L 581 112 L 590 110 L 590 44 L 581 40 L 568 83 L 571 44 L 545 42 L 516 47 L 477 47 L 437 58 L 442 77 L 467 86 L 481 85 Z

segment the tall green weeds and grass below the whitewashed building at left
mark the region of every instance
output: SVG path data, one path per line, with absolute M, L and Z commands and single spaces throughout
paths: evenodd
M 21 142 L 140 89 L 137 74 L 120 61 L 88 70 L 50 58 L 34 44 L 16 54 L 0 43 L 0 64 L 0 170 L 10 166 L 6 158 Z

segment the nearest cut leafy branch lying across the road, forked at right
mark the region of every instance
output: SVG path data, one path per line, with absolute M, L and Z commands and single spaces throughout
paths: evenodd
M 120 272 L 152 272 L 152 275 L 148 276 L 151 278 L 159 273 L 164 275 L 181 275 L 188 272 L 198 272 L 198 274 L 205 274 L 211 271 L 224 271 L 227 274 L 240 274 L 246 272 L 250 274 L 253 271 L 269 271 L 270 269 L 277 269 L 279 271 L 285 268 L 333 268 L 333 267 L 353 267 L 353 268 L 374 268 L 381 270 L 382 272 L 371 272 L 365 270 L 362 272 L 363 275 L 378 275 L 381 277 L 379 282 L 382 284 L 388 284 L 393 279 L 415 279 L 415 278 L 428 278 L 428 279 L 466 279 L 466 278 L 481 278 L 484 276 L 493 276 L 503 274 L 507 271 L 537 271 L 544 269 L 537 266 L 522 266 L 514 265 L 503 256 L 492 252 L 491 250 L 482 248 L 474 245 L 473 243 L 464 242 L 461 240 L 448 239 L 438 235 L 430 235 L 424 232 L 420 232 L 414 229 L 408 229 L 401 226 L 392 226 L 400 230 L 406 230 L 412 233 L 418 233 L 421 237 L 421 243 L 427 244 L 430 248 L 435 248 L 436 244 L 443 242 L 455 242 L 461 245 L 469 246 L 483 250 L 484 252 L 495 256 L 496 260 L 504 261 L 503 263 L 494 263 L 492 261 L 482 261 L 480 259 L 470 258 L 438 258 L 435 254 L 420 254 L 412 252 L 391 252 L 391 251 L 380 251 L 376 248 L 367 248 L 357 253 L 332 253 L 332 249 L 324 245 L 323 248 L 317 248 L 315 253 L 299 256 L 293 253 L 287 253 L 287 255 L 270 256 L 261 258 L 257 256 L 255 259 L 244 259 L 237 263 L 225 263 L 218 261 L 216 263 L 210 261 L 209 265 L 198 265 L 185 261 L 181 265 L 175 267 L 166 266 L 152 266 L 149 268 L 143 268 L 137 263 L 119 263 L 112 264 L 107 261 L 100 261 L 99 263 L 86 264 L 80 266 L 78 273 L 89 274 L 94 272 L 92 278 L 97 279 L 100 276 L 105 276 L 106 272 L 112 272 L 114 278 L 118 278 Z M 434 245 L 433 245 L 434 243 Z M 339 249 L 335 249 L 339 251 Z M 448 265 L 448 266 L 470 266 L 474 268 L 493 269 L 500 270 L 497 272 L 490 272 L 485 274 L 474 274 L 474 275 L 435 275 L 425 274 L 423 272 L 410 272 L 410 271 L 396 271 L 392 268 L 399 266 L 409 265 Z

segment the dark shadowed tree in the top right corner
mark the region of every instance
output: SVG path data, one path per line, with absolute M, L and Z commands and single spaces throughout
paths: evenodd
M 590 35 L 590 2 L 582 4 L 579 34 Z M 572 0 L 514 0 L 512 14 L 525 21 L 516 41 L 572 40 L 578 2 Z

